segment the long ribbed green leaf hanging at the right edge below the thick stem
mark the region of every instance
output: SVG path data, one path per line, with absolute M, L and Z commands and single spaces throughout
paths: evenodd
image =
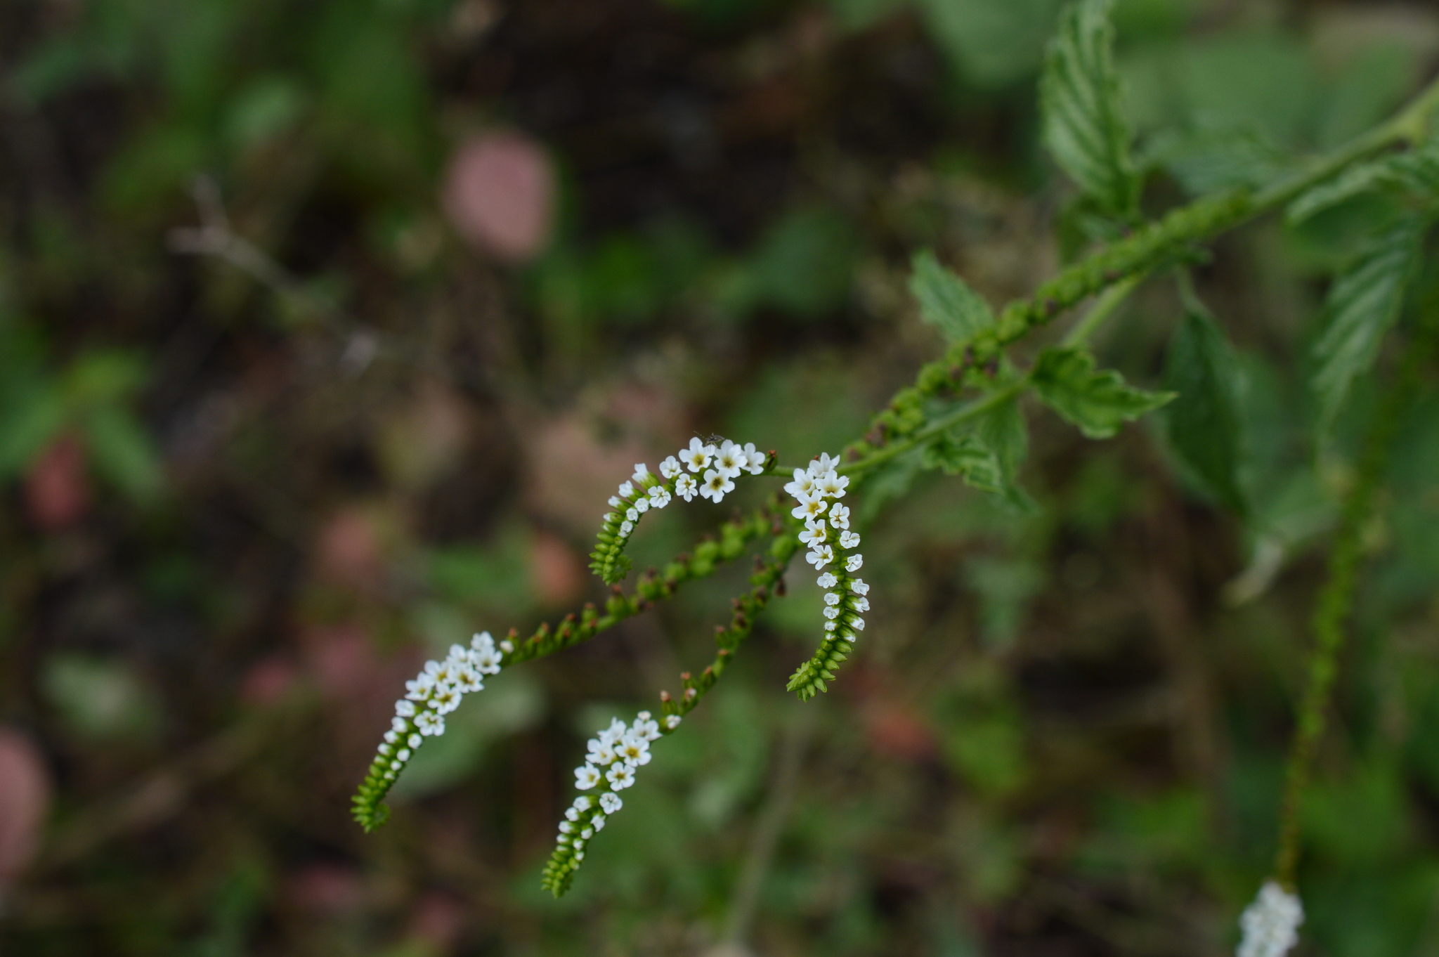
M 1426 226 L 1422 216 L 1400 217 L 1330 286 L 1324 334 L 1314 344 L 1315 371 L 1309 381 L 1320 403 L 1321 430 L 1334 422 L 1354 377 L 1374 364 L 1384 332 L 1399 318 Z

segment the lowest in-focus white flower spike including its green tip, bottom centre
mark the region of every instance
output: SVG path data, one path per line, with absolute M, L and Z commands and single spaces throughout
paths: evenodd
M 555 897 L 564 892 L 570 876 L 584 861 L 584 845 L 604 829 L 610 815 L 625 806 L 617 792 L 635 783 L 636 768 L 649 764 L 650 741 L 678 727 L 678 714 L 666 717 L 661 730 L 661 722 L 649 711 L 640 711 L 633 725 L 626 727 L 619 718 L 612 718 L 610 727 L 590 738 L 584 764 L 574 768 L 574 786 L 591 793 L 576 797 L 564 812 L 554 853 L 544 869 L 543 886 Z

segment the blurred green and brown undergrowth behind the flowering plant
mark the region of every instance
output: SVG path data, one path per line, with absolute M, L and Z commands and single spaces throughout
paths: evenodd
M 708 661 L 747 563 L 494 679 L 387 827 L 347 813 L 426 655 L 603 594 L 583 555 L 633 462 L 696 432 L 833 452 L 941 345 L 914 249 L 993 302 L 1075 255 L 1036 134 L 1056 10 L 0 4 L 0 951 L 1232 951 L 1347 479 L 1302 357 L 1361 204 L 1197 272 L 1258 518 L 1153 423 L 1094 443 L 1036 409 L 1040 511 L 876 479 L 862 653 L 784 694 L 819 620 L 791 573 L 564 901 L 538 868 L 584 738 Z M 1420 3 L 1117 24 L 1151 212 L 1344 141 L 1439 63 Z M 1160 381 L 1179 315 L 1144 286 L 1101 357 Z M 1304 809 L 1305 954 L 1439 953 L 1436 473 L 1429 396 Z M 648 522 L 636 567 L 728 512 Z

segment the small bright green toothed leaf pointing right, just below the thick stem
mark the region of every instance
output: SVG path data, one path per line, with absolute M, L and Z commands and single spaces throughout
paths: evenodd
M 1089 439 L 1108 439 L 1122 423 L 1174 397 L 1134 389 L 1120 373 L 1094 366 L 1094 355 L 1084 350 L 1046 348 L 1030 373 L 1039 399 Z

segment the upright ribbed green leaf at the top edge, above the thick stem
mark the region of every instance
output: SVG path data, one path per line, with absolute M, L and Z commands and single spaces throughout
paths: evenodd
M 1078 0 L 1061 14 L 1039 91 L 1045 142 L 1055 160 L 1105 212 L 1131 219 L 1140 178 L 1114 69 L 1111 6 L 1112 0 Z

